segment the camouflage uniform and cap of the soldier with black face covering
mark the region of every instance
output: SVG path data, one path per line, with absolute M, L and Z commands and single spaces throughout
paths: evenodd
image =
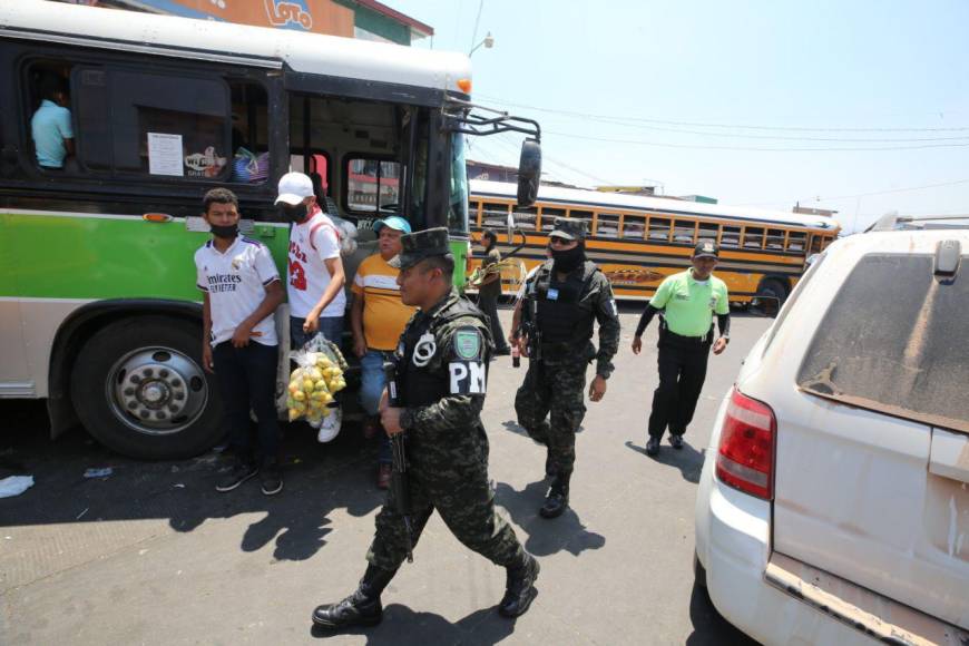
M 581 237 L 584 229 L 577 226 L 581 224 L 557 218 L 556 231 Z M 595 359 L 596 374 L 608 379 L 613 373 L 611 360 L 619 349 L 619 317 L 609 280 L 595 263 L 586 261 L 565 282 L 558 281 L 552 267 L 554 261 L 546 261 L 526 285 L 525 315 L 538 319 L 532 324 L 545 339 L 540 348 L 532 344 L 530 354 L 539 351 L 539 359 L 529 359 L 528 373 L 515 398 L 515 411 L 529 437 L 548 447 L 547 471 L 562 480 L 567 490 L 576 460 L 575 433 L 586 413 L 586 366 Z M 571 296 L 567 295 L 568 288 L 574 292 Z M 546 313 L 544 320 L 536 301 L 548 302 L 552 292 L 554 300 L 559 301 L 557 310 L 551 315 Z M 598 352 L 591 342 L 594 320 L 599 323 Z M 556 325 L 558 334 L 549 334 L 555 332 L 549 327 Z M 549 336 L 554 342 L 547 341 Z

